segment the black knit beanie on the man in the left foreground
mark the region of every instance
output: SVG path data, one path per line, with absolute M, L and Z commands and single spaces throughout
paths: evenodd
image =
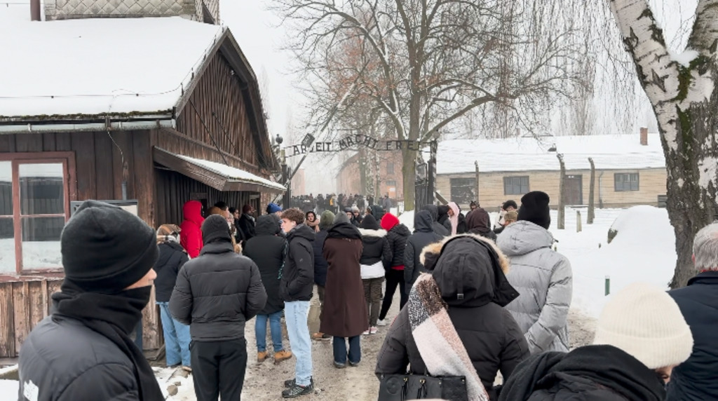
M 65 278 L 88 292 L 113 293 L 136 283 L 157 262 L 157 235 L 139 217 L 88 200 L 60 236 Z

